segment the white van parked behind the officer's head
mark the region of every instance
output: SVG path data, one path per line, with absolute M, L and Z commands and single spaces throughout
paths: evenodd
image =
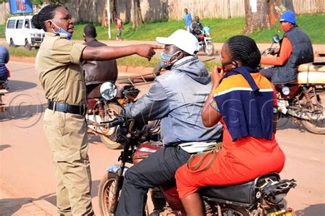
M 32 16 L 12 16 L 5 25 L 5 40 L 10 47 L 24 46 L 38 49 L 45 36 L 43 29 L 36 29 Z

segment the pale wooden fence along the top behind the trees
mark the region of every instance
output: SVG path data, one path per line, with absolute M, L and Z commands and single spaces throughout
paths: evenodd
M 106 0 L 70 0 L 67 5 L 75 21 L 101 22 Z M 181 20 L 184 8 L 200 18 L 245 16 L 245 0 L 139 0 L 145 21 Z M 266 1 L 266 0 L 265 0 Z M 123 21 L 132 21 L 133 0 L 117 0 L 115 8 Z M 282 0 L 296 14 L 324 14 L 325 0 Z M 79 7 L 75 7 L 79 5 Z M 112 8 L 112 7 L 111 7 Z M 8 16 L 8 3 L 0 4 L 0 23 Z

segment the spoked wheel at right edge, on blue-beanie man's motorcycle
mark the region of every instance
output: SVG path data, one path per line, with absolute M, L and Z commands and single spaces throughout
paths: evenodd
M 302 120 L 302 124 L 304 127 L 309 130 L 310 132 L 314 134 L 325 134 L 325 92 L 322 91 L 320 93 L 317 93 L 317 101 L 320 103 L 320 105 L 323 107 L 323 112 L 321 116 L 321 120 Z

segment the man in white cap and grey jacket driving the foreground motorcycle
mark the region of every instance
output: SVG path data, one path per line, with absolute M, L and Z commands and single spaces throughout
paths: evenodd
M 211 77 L 197 58 L 196 38 L 178 29 L 156 41 L 165 45 L 160 64 L 170 71 L 156 77 L 146 95 L 126 106 L 125 115 L 140 121 L 161 119 L 165 148 L 126 171 L 117 216 L 143 215 L 148 189 L 175 180 L 176 169 L 191 156 L 178 146 L 180 143 L 221 139 L 222 126 L 205 128 L 200 117 Z

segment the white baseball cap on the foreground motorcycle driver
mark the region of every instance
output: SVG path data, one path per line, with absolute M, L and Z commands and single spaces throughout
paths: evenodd
M 183 29 L 176 30 L 176 32 L 173 32 L 168 38 L 156 37 L 156 41 L 163 45 L 175 45 L 192 56 L 195 55 L 195 51 L 197 51 L 199 47 L 197 38 Z

